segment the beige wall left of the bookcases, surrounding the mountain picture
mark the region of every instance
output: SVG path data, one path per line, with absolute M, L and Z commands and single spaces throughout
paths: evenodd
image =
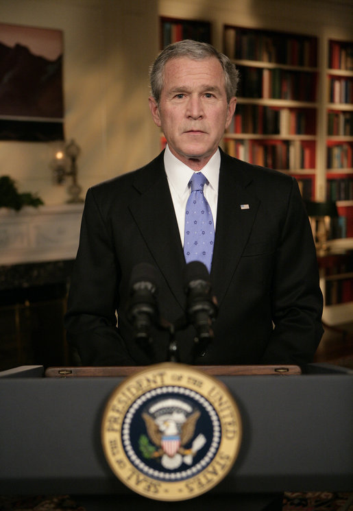
M 83 195 L 156 156 L 159 134 L 147 97 L 157 0 L 0 0 L 0 21 L 64 32 L 65 134 L 82 148 Z M 66 185 L 54 185 L 49 170 L 54 146 L 0 141 L 0 176 L 38 192 L 45 204 L 62 204 Z

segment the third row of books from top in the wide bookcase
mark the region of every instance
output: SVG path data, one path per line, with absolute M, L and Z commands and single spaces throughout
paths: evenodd
M 315 134 L 314 108 L 275 108 L 272 106 L 238 104 L 228 131 L 231 133 Z

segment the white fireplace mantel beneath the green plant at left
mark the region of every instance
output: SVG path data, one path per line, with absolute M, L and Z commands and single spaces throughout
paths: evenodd
M 83 207 L 0 208 L 0 265 L 75 259 Z

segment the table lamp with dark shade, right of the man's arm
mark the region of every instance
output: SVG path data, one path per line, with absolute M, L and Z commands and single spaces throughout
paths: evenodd
M 332 218 L 338 217 L 335 202 L 306 202 L 306 211 L 311 219 L 311 228 L 318 255 L 326 254 L 328 248 L 328 233 Z

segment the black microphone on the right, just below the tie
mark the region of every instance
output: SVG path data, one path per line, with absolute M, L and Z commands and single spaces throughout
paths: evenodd
M 217 316 L 215 297 L 212 296 L 210 274 L 204 263 L 191 261 L 184 271 L 184 289 L 186 293 L 186 316 L 195 326 L 199 345 L 204 350 L 213 338 L 212 322 Z

